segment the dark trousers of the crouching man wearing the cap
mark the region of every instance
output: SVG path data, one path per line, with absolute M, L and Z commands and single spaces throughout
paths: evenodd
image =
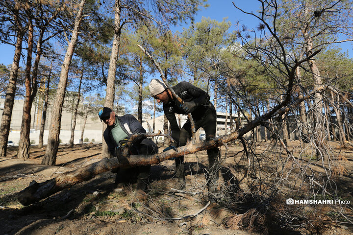
M 134 144 L 130 148 L 131 154 L 141 154 L 141 155 L 151 155 L 158 153 L 158 147 L 152 140 L 146 140 L 144 143 Z M 130 183 L 133 184 L 137 181 L 143 181 L 147 184 L 149 174 L 150 174 L 151 165 L 146 166 L 135 166 L 131 168 L 119 168 L 115 184 L 120 183 Z M 138 182 L 139 183 L 139 182 Z

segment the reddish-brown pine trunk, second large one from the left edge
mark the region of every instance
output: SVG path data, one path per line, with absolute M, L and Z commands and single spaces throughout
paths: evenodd
M 31 84 L 31 68 L 32 68 L 32 51 L 33 51 L 33 24 L 32 19 L 28 19 L 28 49 L 27 49 L 27 62 L 25 69 L 25 102 L 23 106 L 22 114 L 22 124 L 19 148 L 17 152 L 18 158 L 29 158 L 29 133 L 30 133 L 30 120 L 31 120 L 31 107 L 33 99 L 31 99 L 32 94 L 32 84 Z

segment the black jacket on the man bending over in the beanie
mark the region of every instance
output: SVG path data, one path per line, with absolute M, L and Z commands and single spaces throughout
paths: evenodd
M 191 113 L 194 121 L 201 119 L 208 109 L 214 109 L 213 104 L 210 102 L 209 95 L 191 83 L 180 82 L 172 88 L 184 102 L 194 101 L 196 103 L 197 107 Z M 171 125 L 172 138 L 178 141 L 180 136 L 180 129 L 177 124 L 175 114 L 186 113 L 182 110 L 180 107 L 180 102 L 176 99 L 171 100 L 168 104 L 163 104 L 163 110 Z

